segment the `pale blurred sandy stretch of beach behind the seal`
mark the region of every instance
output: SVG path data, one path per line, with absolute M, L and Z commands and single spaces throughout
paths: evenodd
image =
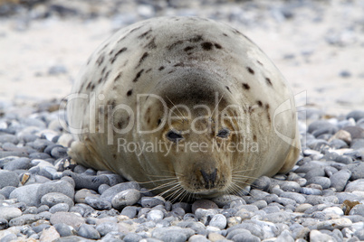
M 0 1 L 0 105 L 61 99 L 91 52 L 118 28 L 153 16 L 191 14 L 230 23 L 256 42 L 283 72 L 293 92 L 307 97 L 307 101 L 300 98 L 300 105 L 307 103 L 306 107 L 329 115 L 364 109 L 362 0 L 209 5 L 119 1 L 118 6 L 110 2 L 45 1 L 28 8 L 11 5 L 4 12 L 9 4 Z M 156 7 L 156 2 L 162 7 Z M 78 13 L 52 12 L 52 5 Z M 38 16 L 47 11 L 49 16 Z

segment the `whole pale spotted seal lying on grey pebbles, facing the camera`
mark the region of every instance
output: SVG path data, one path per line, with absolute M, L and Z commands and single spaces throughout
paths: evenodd
M 292 91 L 225 23 L 160 17 L 93 52 L 68 97 L 69 154 L 171 200 L 239 193 L 300 153 Z

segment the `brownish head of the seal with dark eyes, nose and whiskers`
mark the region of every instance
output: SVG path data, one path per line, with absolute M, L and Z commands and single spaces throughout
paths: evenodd
M 147 132 L 139 139 L 158 140 L 158 160 L 147 157 L 159 169 L 156 174 L 149 170 L 152 187 L 178 199 L 237 191 L 234 171 L 242 167 L 233 146 L 244 131 L 231 90 L 219 77 L 191 69 L 160 80 L 151 93 L 140 103 L 141 127 Z

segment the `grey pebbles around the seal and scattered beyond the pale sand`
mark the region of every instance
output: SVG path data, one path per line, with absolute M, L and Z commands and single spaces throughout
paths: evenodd
M 117 29 L 159 14 L 199 14 L 245 26 L 263 19 L 263 28 L 272 29 L 310 9 L 317 13 L 310 14 L 310 20 L 319 21 L 323 13 L 311 1 L 231 1 L 230 5 L 220 5 L 221 1 L 105 1 L 104 5 L 90 4 L 98 1 L 28 1 L 21 6 L 4 2 L 0 1 L 0 14 L 15 19 L 12 23 L 17 23 L 18 31 L 34 21 L 62 17 L 85 22 L 108 17 L 112 29 Z M 246 14 L 231 7 L 241 2 Z M 347 1 L 342 6 L 350 3 L 359 2 Z M 221 6 L 219 11 L 216 5 Z M 269 11 L 257 11 L 264 8 Z M 345 28 L 352 27 L 351 35 L 333 30 L 326 42 L 358 44 L 357 28 L 364 23 L 362 15 L 358 19 L 362 22 L 348 23 Z M 298 63 L 311 54 L 284 60 Z M 81 59 L 85 61 L 87 55 Z M 304 67 L 304 63 L 298 65 Z M 359 77 L 362 69 L 335 71 L 339 71 L 336 76 L 354 81 L 352 76 Z M 68 66 L 62 64 L 46 72 L 38 74 L 43 79 L 70 79 Z M 324 90 L 330 93 L 330 89 Z M 326 94 L 319 92 L 315 100 Z M 354 94 L 348 102 L 362 98 L 359 86 Z M 42 98 L 43 93 L 36 96 Z M 0 242 L 364 240 L 364 110 L 328 116 L 317 108 L 301 109 L 302 156 L 292 172 L 262 177 L 239 196 L 171 203 L 117 174 L 72 163 L 67 156 L 72 136 L 62 129 L 61 101 L 40 102 L 38 97 L 30 105 L 29 98 L 20 99 L 0 101 Z

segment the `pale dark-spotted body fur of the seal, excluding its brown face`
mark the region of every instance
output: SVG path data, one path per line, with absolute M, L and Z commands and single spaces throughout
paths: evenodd
M 210 82 L 200 80 L 202 89 L 186 92 L 188 78 L 180 79 L 181 75 L 197 73 L 198 76 L 199 71 L 211 77 L 208 78 Z M 180 79 L 176 84 L 182 91 L 178 94 L 182 95 L 179 98 L 213 100 L 208 91 L 215 88 L 224 96 L 223 103 L 242 107 L 244 118 L 249 121 L 247 125 L 254 131 L 245 135 L 254 142 L 267 142 L 263 144 L 266 150 L 261 154 L 242 154 L 235 158 L 246 160 L 244 167 L 255 171 L 247 175 L 273 175 L 292 168 L 300 144 L 294 106 L 290 112 L 274 117 L 275 109 L 285 100 L 294 104 L 286 80 L 263 51 L 243 33 L 225 23 L 204 18 L 149 19 L 123 28 L 103 42 L 91 55 L 72 88 L 72 93 L 86 94 L 95 101 L 79 98 L 70 102 L 69 124 L 79 129 L 98 126 L 101 130 L 105 127 L 100 120 L 91 118 L 96 113 L 107 117 L 105 123 L 111 122 L 116 128 L 127 126 L 133 118 L 128 112 L 120 111 L 110 117 L 108 108 L 122 104 L 135 110 L 139 104 L 137 94 L 163 93 L 164 88 L 173 88 L 169 86 L 168 79 Z M 97 98 L 101 94 L 104 98 Z M 145 101 L 149 99 L 148 96 Z M 143 110 L 146 126 L 162 122 L 157 116 L 160 112 L 157 107 L 145 107 Z M 274 128 L 284 135 L 293 136 L 295 147 L 278 139 Z M 138 134 L 130 133 L 115 135 L 114 144 L 118 137 L 129 141 L 138 139 Z M 152 160 L 158 160 L 158 156 L 152 159 L 148 155 L 136 157 L 134 154 L 118 153 L 116 145 L 108 145 L 105 136 L 92 130 L 75 135 L 77 144 L 72 145 L 70 154 L 79 163 L 119 172 L 130 180 L 136 180 L 140 173 L 153 171 L 155 162 Z M 278 160 L 280 165 L 277 165 Z M 165 168 L 168 169 L 171 168 Z M 151 180 L 148 175 L 142 177 L 139 181 Z

